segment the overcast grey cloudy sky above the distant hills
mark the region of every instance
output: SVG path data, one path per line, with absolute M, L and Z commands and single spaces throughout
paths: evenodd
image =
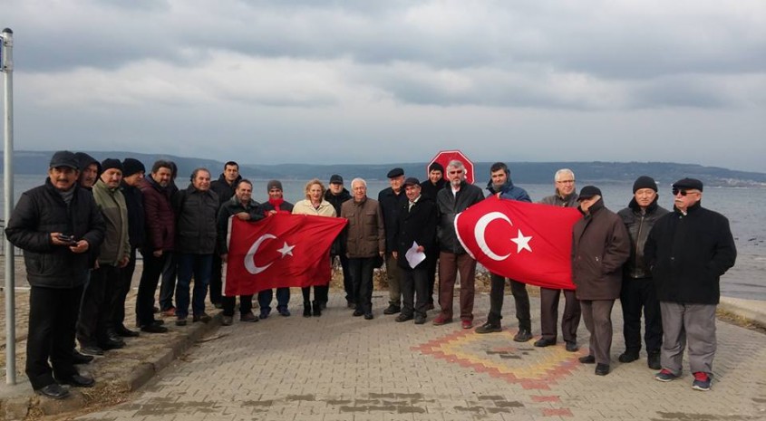
M 766 172 L 763 0 L 4 0 L 15 148 Z

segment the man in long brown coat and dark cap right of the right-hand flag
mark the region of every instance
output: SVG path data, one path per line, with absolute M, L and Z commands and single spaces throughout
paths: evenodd
M 630 237 L 622 219 L 604 206 L 598 187 L 583 187 L 577 201 L 584 216 L 572 230 L 572 281 L 590 332 L 589 353 L 580 357 L 580 362 L 596 363 L 596 376 L 606 376 L 612 347 L 612 307 L 620 296 Z

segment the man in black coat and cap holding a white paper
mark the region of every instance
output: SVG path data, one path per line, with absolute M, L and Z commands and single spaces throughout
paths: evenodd
M 393 257 L 402 269 L 402 312 L 396 321 L 423 324 L 428 305 L 428 276 L 426 254 L 436 244 L 436 204 L 421 195 L 421 183 L 415 177 L 404 180 L 407 203 L 396 219 Z M 417 301 L 415 301 L 417 294 Z

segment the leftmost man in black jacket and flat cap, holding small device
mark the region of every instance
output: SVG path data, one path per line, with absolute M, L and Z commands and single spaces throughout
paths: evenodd
M 55 399 L 69 395 L 62 384 L 94 383 L 74 367 L 72 346 L 87 252 L 101 246 L 105 228 L 93 196 L 76 184 L 78 168 L 72 152 L 53 154 L 44 186 L 24 192 L 5 226 L 8 240 L 24 250 L 31 287 L 26 376 L 35 392 Z

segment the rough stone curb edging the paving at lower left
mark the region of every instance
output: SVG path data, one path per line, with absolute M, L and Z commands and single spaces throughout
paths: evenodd
M 179 358 L 187 349 L 202 339 L 208 332 L 218 329 L 221 324 L 222 313 L 212 316 L 208 323 L 191 323 L 186 335 L 179 335 L 170 340 L 164 348 L 164 352 L 139 359 L 127 359 L 126 362 L 134 363 L 130 369 L 128 378 L 107 380 L 97 384 L 97 388 L 114 388 L 124 392 L 132 392 L 145 385 L 162 368 L 168 367 L 175 359 Z M 95 373 L 98 381 L 98 372 Z M 70 396 L 55 400 L 40 397 L 34 394 L 29 381 L 24 378 L 13 390 L 0 396 L 0 421 L 23 420 L 26 416 L 34 413 L 42 413 L 45 416 L 60 415 L 72 412 L 87 404 L 86 397 L 77 388 L 70 388 Z

